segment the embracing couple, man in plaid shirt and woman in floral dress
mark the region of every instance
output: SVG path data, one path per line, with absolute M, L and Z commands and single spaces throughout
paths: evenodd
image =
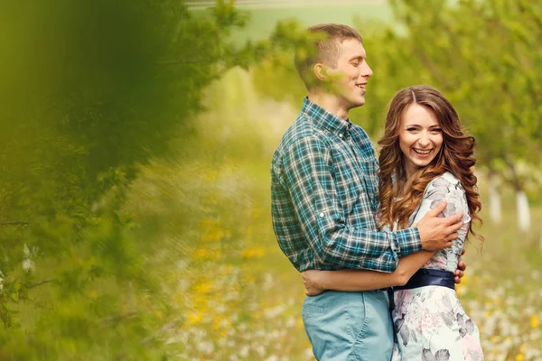
M 303 272 L 304 327 L 319 360 L 482 360 L 454 291 L 480 220 L 474 138 L 435 88 L 391 100 L 378 161 L 349 119 L 372 70 L 360 33 L 319 24 L 295 65 L 308 89 L 271 165 L 281 249 Z

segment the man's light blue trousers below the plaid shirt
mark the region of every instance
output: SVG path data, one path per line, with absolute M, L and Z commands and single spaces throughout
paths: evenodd
M 390 361 L 393 327 L 384 291 L 305 297 L 304 328 L 320 361 Z

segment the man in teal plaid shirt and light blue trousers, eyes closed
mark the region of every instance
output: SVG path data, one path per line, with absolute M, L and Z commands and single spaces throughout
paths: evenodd
M 318 36 L 313 50 L 295 57 L 308 97 L 271 165 L 273 226 L 281 249 L 299 272 L 389 273 L 399 257 L 451 246 L 463 215 L 437 218 L 445 203 L 417 227 L 378 231 L 378 162 L 365 131 L 349 120 L 350 109 L 365 104 L 372 76 L 363 40 L 341 24 L 319 24 L 309 32 Z M 391 359 L 385 291 L 323 292 L 305 299 L 303 318 L 318 359 Z

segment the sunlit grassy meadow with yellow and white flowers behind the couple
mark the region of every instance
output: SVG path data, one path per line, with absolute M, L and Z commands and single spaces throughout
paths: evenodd
M 270 158 L 296 109 L 257 97 L 250 74 L 239 69 L 207 97 L 192 151 L 176 167 L 149 166 L 133 188 L 131 211 L 143 230 L 160 218 L 167 226 L 159 236 L 174 245 L 166 250 L 176 260 L 166 280 L 180 318 L 164 337 L 174 359 L 313 360 L 301 276 L 278 248 L 270 219 Z M 520 232 L 514 194 L 504 189 L 502 197 L 499 224 L 487 207 L 482 212 L 485 243 L 468 245 L 458 292 L 481 330 L 486 360 L 540 360 L 540 233 Z M 542 205 L 531 211 L 537 227 Z

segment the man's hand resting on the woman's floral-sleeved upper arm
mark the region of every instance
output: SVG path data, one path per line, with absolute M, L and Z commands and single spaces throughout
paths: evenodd
M 422 248 L 426 251 L 438 251 L 439 249 L 452 246 L 452 241 L 459 235 L 457 230 L 463 226 L 463 212 L 446 218 L 437 216 L 446 208 L 448 203 L 444 200 L 434 209 L 425 213 L 417 224 Z

